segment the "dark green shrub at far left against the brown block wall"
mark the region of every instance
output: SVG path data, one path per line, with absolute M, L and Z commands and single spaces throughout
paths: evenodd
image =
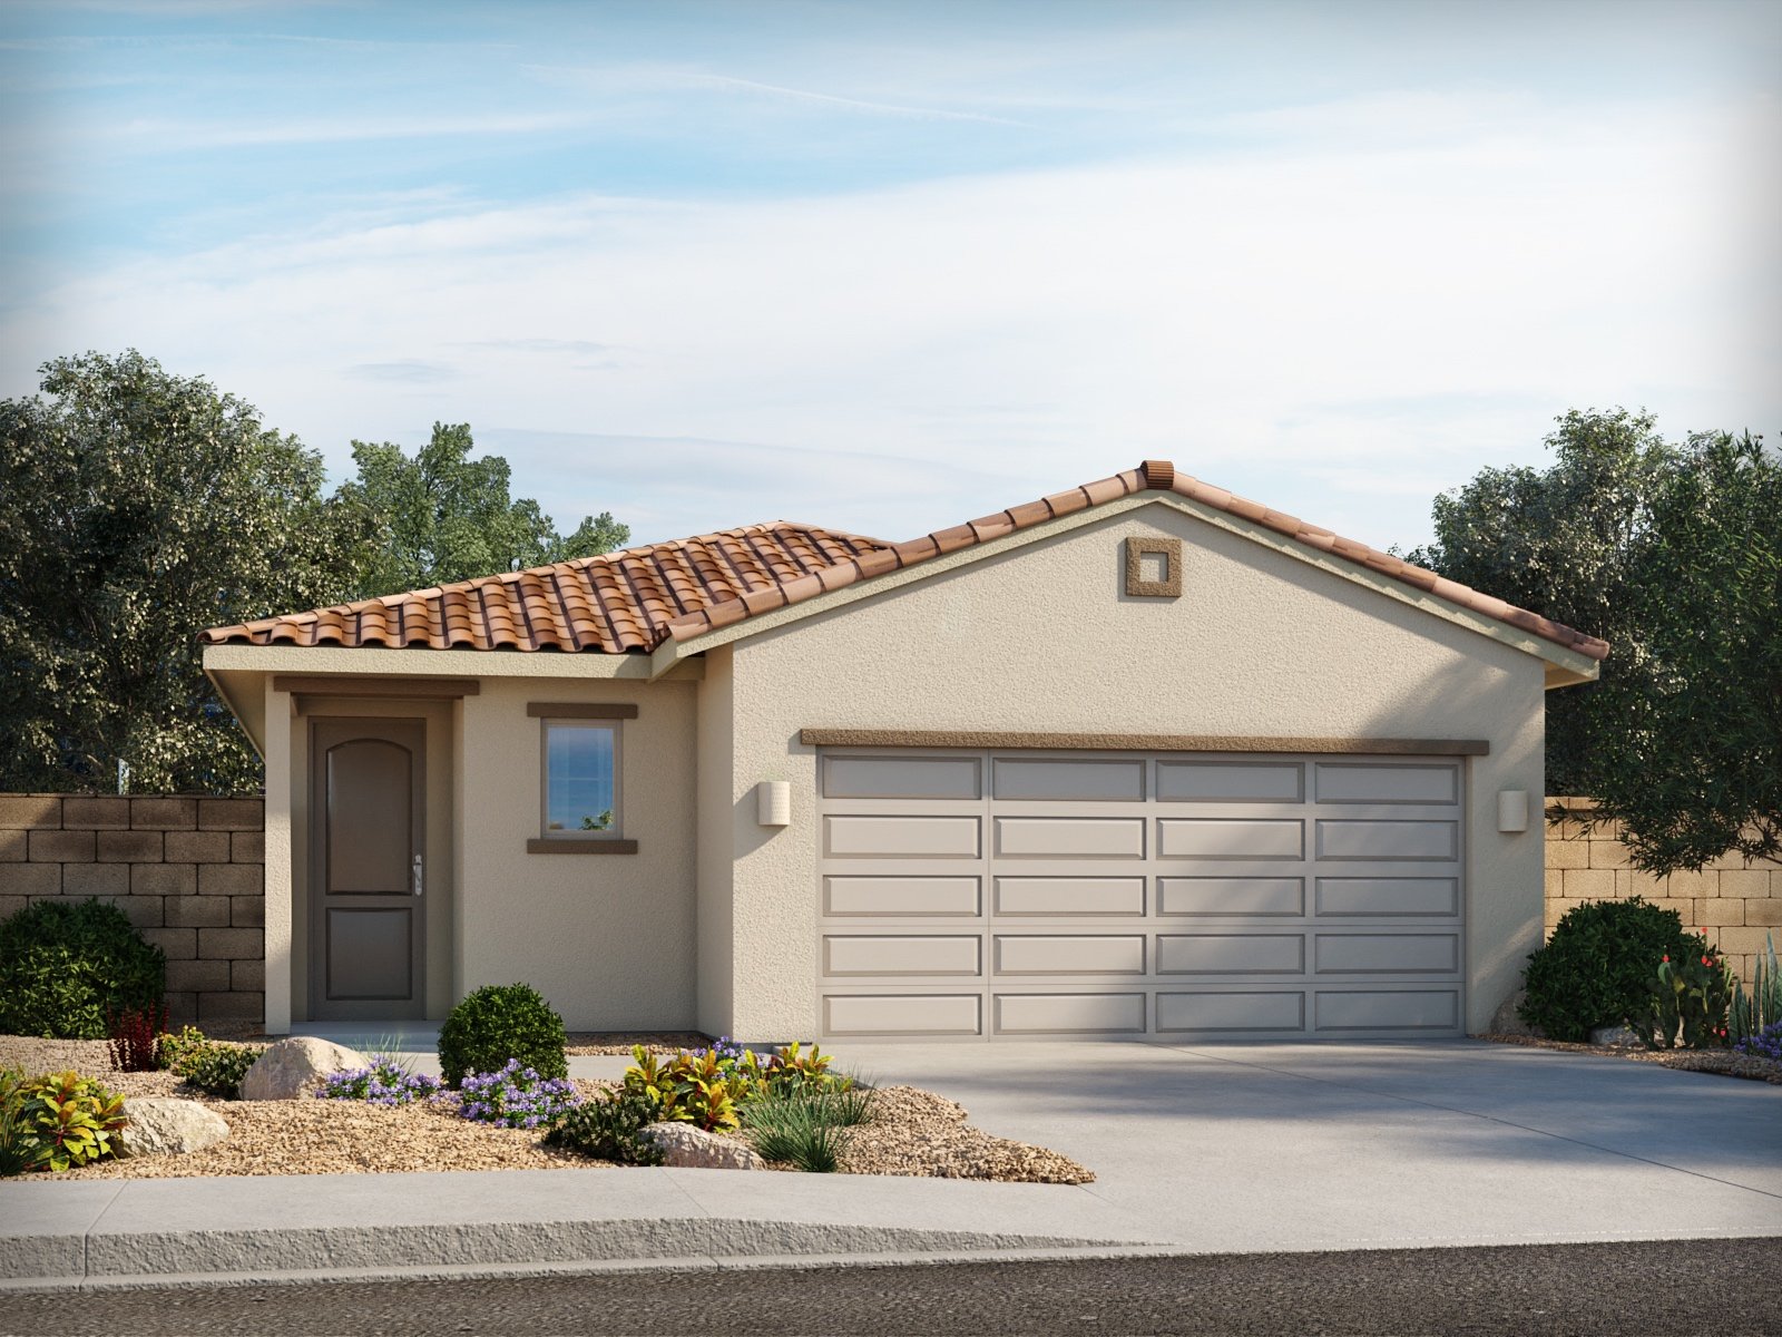
M 0 1034 L 105 1039 L 107 1009 L 144 1013 L 168 959 L 103 900 L 34 900 L 0 922 Z

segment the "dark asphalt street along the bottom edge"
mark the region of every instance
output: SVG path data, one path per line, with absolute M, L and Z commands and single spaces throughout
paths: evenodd
M 20 1337 L 1782 1332 L 1782 1239 L 0 1296 Z

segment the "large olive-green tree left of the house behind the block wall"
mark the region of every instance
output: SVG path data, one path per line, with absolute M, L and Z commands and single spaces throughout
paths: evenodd
M 205 380 L 134 349 L 41 373 L 0 403 L 0 788 L 258 786 L 196 635 L 344 597 L 369 517 Z

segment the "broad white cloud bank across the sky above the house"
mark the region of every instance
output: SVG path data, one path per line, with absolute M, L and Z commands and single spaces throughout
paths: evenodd
M 12 308 L 0 385 L 134 344 L 337 463 L 351 437 L 469 421 L 517 490 L 640 537 L 788 497 L 902 537 L 1173 456 L 1415 542 L 1435 490 L 1534 462 L 1574 405 L 1773 424 L 1748 109 L 1556 116 L 1484 91 L 1442 102 L 1440 134 L 1374 134 L 1420 114 L 1374 100 L 1240 150 L 848 196 L 456 203 L 257 237 Z M 608 444 L 567 444 L 588 439 Z

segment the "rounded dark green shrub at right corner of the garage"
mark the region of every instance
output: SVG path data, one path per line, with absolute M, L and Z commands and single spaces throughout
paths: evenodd
M 1686 934 L 1673 909 L 1629 897 L 1574 906 L 1547 947 L 1529 957 L 1520 1016 L 1550 1039 L 1584 1043 L 1597 1027 L 1620 1025 L 1652 1011 L 1659 963 L 1707 952 L 1707 939 Z

